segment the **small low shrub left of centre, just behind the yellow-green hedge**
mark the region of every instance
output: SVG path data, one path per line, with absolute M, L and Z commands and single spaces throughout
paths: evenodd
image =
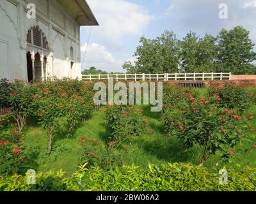
M 83 145 L 83 156 L 81 163 L 87 163 L 88 166 L 100 166 L 106 169 L 110 166 L 122 166 L 122 158 L 120 154 L 110 151 L 104 143 L 99 142 L 95 138 L 87 138 L 83 136 L 81 143 Z

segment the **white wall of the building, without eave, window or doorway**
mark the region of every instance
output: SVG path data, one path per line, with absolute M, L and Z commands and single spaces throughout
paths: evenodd
M 36 19 L 26 18 L 28 3 L 36 4 Z M 0 0 L 0 78 L 27 80 L 26 52 L 40 51 L 26 45 L 26 34 L 34 25 L 39 25 L 47 37 L 50 48 L 44 50 L 44 55 L 50 73 L 58 78 L 71 76 L 72 46 L 75 59 L 72 77 L 81 77 L 79 26 L 60 4 L 55 0 Z

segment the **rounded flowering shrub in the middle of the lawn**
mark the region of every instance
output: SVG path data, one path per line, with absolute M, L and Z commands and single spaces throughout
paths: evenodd
M 147 118 L 142 115 L 142 110 L 134 110 L 131 106 L 107 106 L 106 120 L 111 132 L 110 141 L 131 142 L 132 137 L 140 136 L 147 124 Z

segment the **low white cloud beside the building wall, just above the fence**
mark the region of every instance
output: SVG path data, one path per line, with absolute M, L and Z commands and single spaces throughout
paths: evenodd
M 106 47 L 97 43 L 88 44 L 86 55 L 84 57 L 86 45 L 86 43 L 81 45 L 81 63 L 84 58 L 82 70 L 88 69 L 91 66 L 108 72 L 122 70 L 122 64 L 124 64 L 124 62 L 115 59 Z

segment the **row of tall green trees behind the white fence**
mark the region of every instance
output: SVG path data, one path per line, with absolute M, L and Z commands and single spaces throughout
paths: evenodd
M 188 33 L 182 40 L 177 40 L 172 31 L 164 31 L 156 39 L 143 36 L 140 43 L 134 54 L 137 61 L 123 65 L 127 73 L 256 73 L 252 63 L 256 60 L 255 44 L 242 26 L 222 29 L 216 37 Z

